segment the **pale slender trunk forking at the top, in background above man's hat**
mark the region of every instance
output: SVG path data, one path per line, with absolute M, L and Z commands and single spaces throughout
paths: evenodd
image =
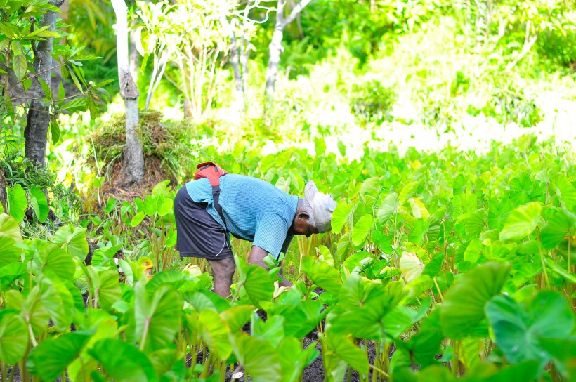
M 264 90 L 264 110 L 263 121 L 270 125 L 272 120 L 272 109 L 274 102 L 274 89 L 276 84 L 276 75 L 278 74 L 278 65 L 280 65 L 280 53 L 282 53 L 282 39 L 284 38 L 284 28 L 310 3 L 312 0 L 301 0 L 287 18 L 284 18 L 284 6 L 286 0 L 277 0 L 276 25 L 272 34 L 272 41 L 268 49 L 270 58 L 268 59 L 268 68 L 266 69 L 266 88 Z

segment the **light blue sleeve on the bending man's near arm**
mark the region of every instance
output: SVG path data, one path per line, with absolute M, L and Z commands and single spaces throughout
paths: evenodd
M 261 216 L 256 221 L 256 232 L 254 232 L 252 245 L 259 246 L 275 258 L 278 258 L 280 251 L 284 249 L 284 244 L 287 242 L 288 228 L 286 220 L 280 215 Z

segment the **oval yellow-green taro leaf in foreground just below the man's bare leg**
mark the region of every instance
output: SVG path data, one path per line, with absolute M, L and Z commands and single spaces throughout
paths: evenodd
M 228 325 L 214 310 L 202 310 L 198 320 L 202 324 L 201 335 L 208 348 L 214 352 L 218 360 L 226 360 L 232 354 Z

